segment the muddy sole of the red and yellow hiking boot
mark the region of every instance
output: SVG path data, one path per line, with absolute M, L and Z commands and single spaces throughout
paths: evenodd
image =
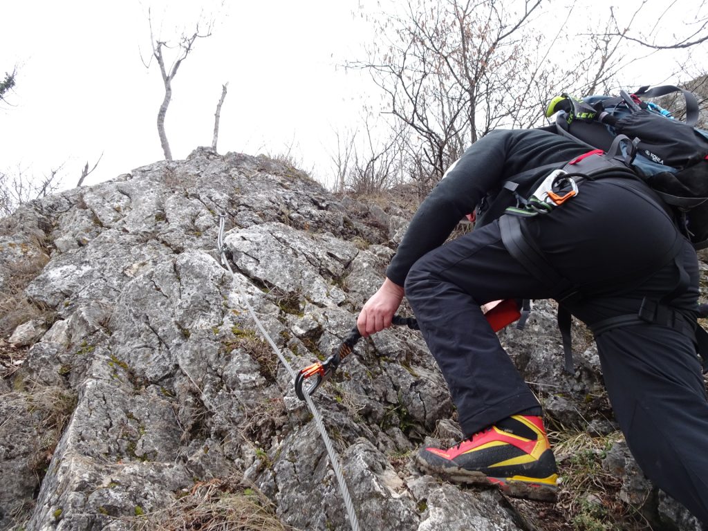
M 439 476 L 442 477 L 442 479 L 448 479 L 454 483 L 496 486 L 507 496 L 512 496 L 513 498 L 554 502 L 558 497 L 558 487 L 555 484 L 544 482 L 549 480 L 498 478 L 487 476 L 476 470 L 455 467 L 454 465 L 440 468 L 431 467 L 424 459 L 416 458 L 416 461 L 418 462 L 418 467 L 433 476 Z

